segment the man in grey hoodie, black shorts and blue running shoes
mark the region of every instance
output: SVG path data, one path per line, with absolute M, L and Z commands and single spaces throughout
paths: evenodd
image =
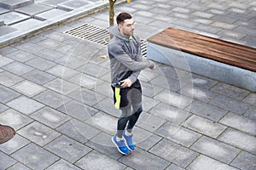
M 155 66 L 154 62 L 142 57 L 140 39 L 133 35 L 134 20 L 131 14 L 120 13 L 116 21 L 118 26 L 109 29 L 114 37 L 108 45 L 108 56 L 114 106 L 121 110 L 121 116 L 112 141 L 120 153 L 127 155 L 130 150 L 135 150 L 131 131 L 143 111 L 142 88 L 137 77 L 143 69 L 154 70 Z

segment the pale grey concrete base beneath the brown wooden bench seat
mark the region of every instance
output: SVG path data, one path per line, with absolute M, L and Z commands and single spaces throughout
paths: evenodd
M 256 91 L 256 72 L 247 71 L 236 66 L 226 65 L 193 54 L 183 53 L 182 51 L 166 48 L 151 42 L 148 42 L 147 48 L 148 59 L 166 65 L 172 65 L 173 67 L 191 71 L 192 73 L 210 77 L 253 92 Z

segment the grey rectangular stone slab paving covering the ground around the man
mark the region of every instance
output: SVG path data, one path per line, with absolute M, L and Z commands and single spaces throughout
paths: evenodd
M 0 170 L 256 169 L 255 92 L 160 63 L 140 75 L 137 149 L 119 154 L 111 142 L 119 111 L 113 107 L 109 60 L 102 57 L 107 45 L 68 33 L 83 26 L 106 30 L 108 9 L 99 8 L 108 1 L 46 2 L 34 3 L 66 14 L 50 15 L 46 22 L 25 14 L 27 19 L 15 23 L 0 14 L 1 43 L 16 41 L 0 48 L 0 124 L 16 131 L 0 144 Z M 81 2 L 67 9 L 67 3 Z M 21 14 L 20 8 L 6 10 Z M 144 40 L 175 27 L 256 47 L 253 0 L 131 0 L 115 6 L 116 14 L 121 11 L 133 14 Z M 26 31 L 28 20 L 40 24 Z M 6 27 L 12 31 L 1 34 Z

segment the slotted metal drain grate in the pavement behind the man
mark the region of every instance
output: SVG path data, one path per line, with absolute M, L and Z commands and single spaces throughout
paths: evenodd
M 88 23 L 85 23 L 82 26 L 77 26 L 69 31 L 65 31 L 64 33 L 105 46 L 108 45 L 109 41 L 109 32 L 107 29 L 100 26 L 90 25 Z M 143 57 L 147 57 L 147 41 L 144 39 L 141 39 L 141 49 Z

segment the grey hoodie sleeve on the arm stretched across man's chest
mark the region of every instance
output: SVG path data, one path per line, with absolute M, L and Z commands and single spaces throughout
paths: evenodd
M 142 59 L 141 61 L 131 59 L 131 57 L 125 53 L 125 50 L 120 45 L 110 45 L 108 52 L 120 63 L 125 65 L 130 71 L 142 71 L 148 67 L 154 67 L 154 62 L 148 59 Z

